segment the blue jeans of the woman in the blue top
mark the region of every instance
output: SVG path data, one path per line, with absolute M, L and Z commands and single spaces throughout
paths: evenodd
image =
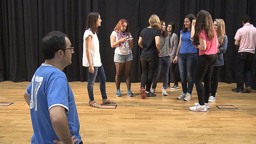
M 197 62 L 197 53 L 179 53 L 178 64 L 180 70 L 180 81 L 183 93 L 192 93 L 194 87 L 194 73 Z M 188 76 L 188 84 L 187 84 Z

